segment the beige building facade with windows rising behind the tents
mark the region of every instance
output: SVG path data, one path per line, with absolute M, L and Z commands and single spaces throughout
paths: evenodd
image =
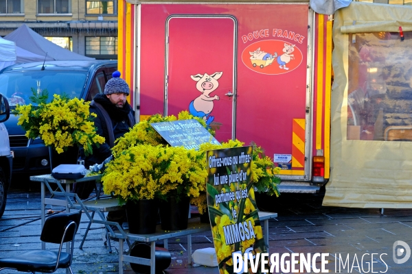
M 117 0 L 0 0 L 0 36 L 23 23 L 73 52 L 117 59 Z

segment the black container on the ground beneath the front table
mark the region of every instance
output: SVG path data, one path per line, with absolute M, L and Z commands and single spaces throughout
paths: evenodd
M 143 242 L 135 242 L 130 249 L 130 256 L 150 259 L 150 245 Z M 161 273 L 161 271 L 167 269 L 172 262 L 172 255 L 168 249 L 162 247 L 155 247 L 155 269 L 156 273 Z M 135 271 L 135 273 L 146 274 L 150 273 L 150 266 L 143 264 L 133 264 L 130 263 L 130 267 Z

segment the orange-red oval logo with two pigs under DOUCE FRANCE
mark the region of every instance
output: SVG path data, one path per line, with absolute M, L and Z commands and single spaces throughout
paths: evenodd
M 282 40 L 254 42 L 242 52 L 242 62 L 252 71 L 262 74 L 283 74 L 296 69 L 303 55 L 295 44 Z

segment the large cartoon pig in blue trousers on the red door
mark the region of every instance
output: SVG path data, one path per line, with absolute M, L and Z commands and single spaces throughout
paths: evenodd
M 219 100 L 218 95 L 210 97 L 210 94 L 218 88 L 218 79 L 222 77 L 222 74 L 223 72 L 216 72 L 212 75 L 208 75 L 207 73 L 204 75 L 190 75 L 190 77 L 197 82 L 196 88 L 198 91 L 202 92 L 202 95 L 190 102 L 189 112 L 193 116 L 203 118 L 207 125 L 210 125 L 214 120 L 214 116 L 209 116 L 211 110 L 213 110 L 213 101 Z

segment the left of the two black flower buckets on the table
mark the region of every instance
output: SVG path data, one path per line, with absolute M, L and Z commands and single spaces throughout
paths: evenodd
M 141 199 L 126 202 L 129 232 L 133 234 L 153 234 L 156 232 L 157 200 Z

